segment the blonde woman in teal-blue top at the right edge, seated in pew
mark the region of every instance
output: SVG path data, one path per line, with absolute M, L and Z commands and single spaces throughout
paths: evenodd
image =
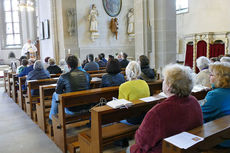
M 213 90 L 207 93 L 201 106 L 204 123 L 230 114 L 230 64 L 215 62 L 209 65 L 209 70 Z M 229 148 L 230 140 L 219 146 Z

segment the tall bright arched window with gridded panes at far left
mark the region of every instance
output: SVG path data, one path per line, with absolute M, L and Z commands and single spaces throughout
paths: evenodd
M 17 0 L 1 0 L 2 48 L 21 48 L 21 23 Z

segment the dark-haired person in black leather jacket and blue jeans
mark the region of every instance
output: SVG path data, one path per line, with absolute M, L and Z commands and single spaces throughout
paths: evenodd
M 57 101 L 59 94 L 90 89 L 90 75 L 87 72 L 83 72 L 77 69 L 78 58 L 74 55 L 69 55 L 66 58 L 66 63 L 71 70 L 70 72 L 62 74 L 58 79 L 56 92 L 54 92 L 52 97 L 49 123 L 52 122 L 52 116 L 58 113 Z M 90 107 L 91 105 L 70 107 L 65 109 L 65 113 L 70 115 L 75 113 L 82 113 L 88 111 Z

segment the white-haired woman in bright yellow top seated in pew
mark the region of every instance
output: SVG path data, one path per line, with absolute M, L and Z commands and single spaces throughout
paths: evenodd
M 136 61 L 129 62 L 125 73 L 128 81 L 120 85 L 119 99 L 137 100 L 150 96 L 149 86 L 146 81 L 138 79 L 141 75 L 141 68 Z M 144 116 L 145 114 L 135 116 L 121 122 L 126 124 L 140 124 Z

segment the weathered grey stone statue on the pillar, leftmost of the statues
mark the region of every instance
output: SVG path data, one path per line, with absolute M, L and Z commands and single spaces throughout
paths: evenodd
M 75 33 L 75 15 L 76 11 L 74 8 L 70 8 L 67 10 L 68 32 L 70 36 L 72 36 Z

